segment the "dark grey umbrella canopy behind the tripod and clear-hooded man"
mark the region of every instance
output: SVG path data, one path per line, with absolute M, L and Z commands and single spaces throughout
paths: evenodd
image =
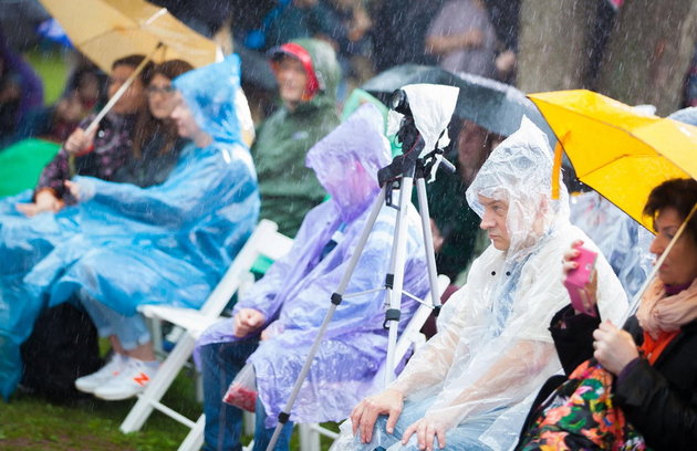
M 405 64 L 376 75 L 361 88 L 386 101 L 395 90 L 419 83 L 459 87 L 454 113 L 458 117 L 470 119 L 499 135 L 509 136 L 520 127 L 520 119 L 526 115 L 554 144 L 554 134 L 532 102 L 516 87 L 493 80 L 466 73 L 454 74 L 436 66 Z

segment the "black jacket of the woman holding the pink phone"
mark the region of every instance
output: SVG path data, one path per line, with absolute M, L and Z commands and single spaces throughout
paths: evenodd
M 564 317 L 565 327 L 559 327 Z M 550 332 L 564 373 L 570 375 L 581 363 L 593 356 L 592 334 L 600 319 L 573 315 L 571 306 L 558 312 Z M 637 346 L 644 333 L 636 317 L 625 325 Z M 563 382 L 556 379 L 545 385 L 547 396 Z M 655 450 L 697 449 L 697 321 L 683 327 L 653 366 L 639 357 L 622 379 L 615 379 L 615 401 L 627 421 L 642 433 L 646 444 Z M 533 405 L 534 411 L 539 401 Z M 526 421 L 528 426 L 531 418 Z M 524 431 L 524 430 L 523 430 Z

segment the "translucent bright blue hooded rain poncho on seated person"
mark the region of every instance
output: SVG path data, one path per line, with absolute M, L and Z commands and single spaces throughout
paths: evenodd
M 238 112 L 247 107 L 240 102 L 238 57 L 184 74 L 174 84 L 214 138 L 209 146 L 183 149 L 159 186 L 76 177 L 89 200 L 56 214 L 22 218 L 21 228 L 3 223 L 0 229 L 0 260 L 19 255 L 25 263 L 7 274 L 11 283 L 0 297 L 6 396 L 19 375 L 11 369 L 20 367 L 15 349 L 46 301 L 56 305 L 84 291 L 124 315 L 134 315 L 141 304 L 196 308 L 257 223 L 257 178 L 238 118 L 248 116 Z

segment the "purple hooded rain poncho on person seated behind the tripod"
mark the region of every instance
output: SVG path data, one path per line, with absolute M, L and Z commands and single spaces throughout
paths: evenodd
M 275 333 L 261 342 L 248 360 L 254 366 L 259 397 L 268 412 L 267 427 L 275 424 L 277 415 L 290 397 L 378 192 L 377 169 L 388 162 L 389 156 L 379 127 L 379 113 L 373 105 L 364 105 L 309 151 L 306 165 L 332 198 L 305 216 L 290 253 L 278 260 L 235 307 L 233 313 L 240 308 L 262 312 L 267 317 L 264 327 Z M 383 207 L 345 294 L 384 285 L 395 219 L 396 210 Z M 420 222 L 412 206 L 407 221 L 404 290 L 425 296 L 426 258 Z M 343 237 L 320 260 L 342 223 Z M 358 400 L 379 388 L 375 376 L 387 349 L 384 301 L 381 291 L 342 302 L 292 409 L 293 421 L 342 420 Z M 415 301 L 403 296 L 400 328 L 416 307 Z M 219 323 L 204 334 L 198 345 L 237 340 L 232 331 L 233 319 Z

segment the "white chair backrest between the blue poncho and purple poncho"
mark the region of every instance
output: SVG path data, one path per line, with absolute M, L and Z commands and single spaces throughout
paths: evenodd
M 230 302 L 232 294 L 240 287 L 243 274 L 249 272 L 259 256 L 263 255 L 275 261 L 284 256 L 292 245 L 293 240 L 279 233 L 275 222 L 268 219 L 259 221 L 228 271 L 201 306 L 201 314 L 218 317 Z

